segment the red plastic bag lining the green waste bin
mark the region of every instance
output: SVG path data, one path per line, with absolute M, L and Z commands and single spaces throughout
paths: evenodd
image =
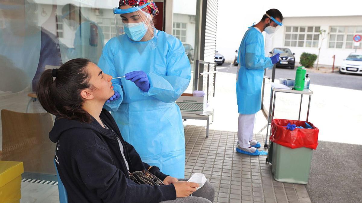
M 288 123 L 295 124 L 296 126 L 302 126 L 303 128 L 306 127 L 305 121 L 274 119 L 271 122 L 270 140 L 272 142 L 292 149 L 307 147 L 315 150 L 317 148 L 319 133 L 318 128 L 316 128 L 312 123 L 307 122 L 313 127 L 313 129 L 296 128 L 291 131 L 287 130 L 285 127 Z

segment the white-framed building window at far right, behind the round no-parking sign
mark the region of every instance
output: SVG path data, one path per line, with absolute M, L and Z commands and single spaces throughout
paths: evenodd
M 332 26 L 329 28 L 328 48 L 361 49 L 361 43 L 354 46 L 353 36 L 356 34 L 362 34 L 362 26 Z

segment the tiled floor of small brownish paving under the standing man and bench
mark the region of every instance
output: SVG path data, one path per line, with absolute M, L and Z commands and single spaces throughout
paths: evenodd
M 256 139 L 262 141 L 263 136 Z M 235 132 L 210 130 L 206 138 L 205 127 L 185 126 L 185 178 L 191 173 L 205 174 L 215 187 L 214 202 L 311 202 L 304 185 L 274 181 L 266 156 L 235 152 L 236 140 Z M 57 189 L 56 185 L 22 182 L 21 202 L 59 202 Z

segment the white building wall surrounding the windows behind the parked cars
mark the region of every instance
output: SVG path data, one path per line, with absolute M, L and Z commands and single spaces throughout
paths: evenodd
M 286 17 L 283 20 L 283 27 L 281 30 L 276 33 L 272 39 L 271 46 L 267 46 L 265 52 L 269 51 L 274 47 L 285 47 L 284 46 L 284 37 L 286 26 L 320 26 L 321 30 L 326 30 L 329 32 L 330 26 L 361 26 L 362 25 L 362 16 L 334 16 L 334 17 Z M 322 65 L 332 65 L 333 64 L 333 55 L 336 55 L 336 60 L 334 65 L 341 65 L 343 59 L 355 49 L 345 49 L 345 48 L 328 48 L 328 35 L 323 40 L 321 44 L 321 37 L 319 38 L 319 47 L 321 47 L 319 64 Z M 266 42 L 268 45 L 268 42 Z M 318 47 L 318 48 L 319 48 Z M 299 65 L 300 55 L 303 52 L 315 53 L 318 54 L 318 48 L 309 48 L 309 47 L 287 47 L 293 53 L 295 53 L 296 65 Z M 359 52 L 362 52 L 359 49 Z

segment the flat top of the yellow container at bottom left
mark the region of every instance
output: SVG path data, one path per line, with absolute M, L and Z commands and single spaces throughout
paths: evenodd
M 0 187 L 24 173 L 22 161 L 0 161 Z

